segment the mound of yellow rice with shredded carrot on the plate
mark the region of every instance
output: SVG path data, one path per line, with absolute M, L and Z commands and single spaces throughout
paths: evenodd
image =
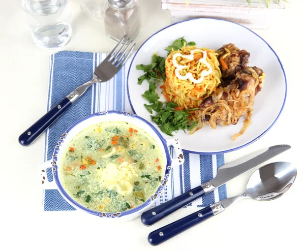
M 190 79 L 181 80 L 176 74 L 176 67 L 173 64 L 173 55 L 181 53 L 182 55 L 189 55 L 194 49 L 200 49 L 206 51 L 206 61 L 212 68 L 212 72 L 204 76 L 203 81 L 195 84 Z M 221 83 L 221 70 L 219 68 L 219 61 L 217 59 L 217 53 L 215 50 L 203 48 L 197 48 L 196 46 L 182 46 L 180 50 L 174 51 L 167 56 L 165 60 L 165 74 L 166 81 L 164 85 L 161 85 L 163 89 L 162 93 L 168 102 L 174 102 L 178 105 L 176 110 L 179 109 L 192 109 L 197 108 L 201 104 L 205 97 L 211 95 L 212 92 Z M 181 56 L 176 57 L 176 61 L 181 66 L 186 68 L 179 71 L 181 76 L 185 76 L 188 72 L 192 73 L 195 79 L 200 79 L 202 71 L 207 71 L 207 66 L 200 62 L 200 58 L 203 57 L 203 53 L 200 51 L 194 52 L 193 59 L 187 59 Z M 192 117 L 189 120 L 198 121 L 196 115 L 191 113 Z

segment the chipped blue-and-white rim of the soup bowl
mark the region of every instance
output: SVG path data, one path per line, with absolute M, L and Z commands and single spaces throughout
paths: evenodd
M 58 166 L 57 166 L 57 154 L 59 152 L 60 146 L 64 143 L 68 133 L 75 128 L 79 123 L 91 118 L 91 117 L 95 117 L 95 116 L 105 116 L 107 114 L 117 114 L 117 115 L 123 115 L 123 116 L 130 116 L 133 117 L 135 119 L 139 119 L 142 122 L 146 123 L 156 134 L 157 136 L 160 138 L 163 147 L 164 147 L 164 151 L 165 151 L 165 155 L 166 155 L 166 165 L 165 165 L 165 173 L 163 175 L 163 178 L 160 181 L 160 185 L 158 186 L 158 189 L 156 190 L 155 194 L 150 196 L 143 204 L 132 208 L 130 210 L 127 211 L 123 211 L 123 212 L 100 212 L 100 211 L 95 211 L 93 209 L 89 209 L 81 204 L 79 204 L 78 202 L 76 202 L 69 194 L 68 192 L 66 192 L 66 189 L 64 188 L 64 186 L 62 185 L 62 183 L 60 182 L 59 178 L 58 178 Z M 164 163 L 165 164 L 165 163 Z M 122 216 L 126 216 L 132 213 L 137 213 L 138 211 L 140 211 L 141 209 L 153 204 L 154 202 L 156 202 L 156 200 L 159 198 L 159 196 L 163 193 L 164 189 L 165 189 L 165 185 L 168 181 L 168 177 L 170 175 L 170 171 L 171 171 L 171 164 L 172 164 L 172 159 L 170 156 L 170 151 L 169 148 L 167 146 L 167 141 L 166 139 L 161 135 L 161 133 L 157 130 L 156 127 L 154 127 L 153 124 L 151 124 L 149 121 L 147 121 L 146 119 L 136 115 L 136 114 L 132 114 L 129 112 L 124 112 L 124 111 L 103 111 L 103 112 L 97 112 L 97 113 L 93 113 L 90 114 L 80 120 L 78 120 L 77 122 L 75 122 L 73 125 L 71 125 L 70 128 L 68 128 L 62 136 L 60 136 L 60 139 L 57 141 L 56 146 L 54 147 L 54 152 L 53 152 L 53 157 L 52 157 L 52 175 L 53 175 L 53 179 L 57 185 L 57 189 L 59 191 L 60 194 L 63 195 L 63 197 L 68 201 L 68 203 L 72 206 L 75 206 L 87 213 L 93 214 L 93 215 L 97 215 L 101 218 L 106 217 L 106 218 L 119 218 Z

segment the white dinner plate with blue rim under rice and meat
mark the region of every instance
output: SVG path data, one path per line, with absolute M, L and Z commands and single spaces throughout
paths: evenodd
M 252 122 L 243 135 L 232 142 L 232 136 L 240 131 L 244 118 L 241 118 L 236 125 L 227 127 L 218 125 L 216 130 L 207 125 L 193 135 L 180 130 L 173 135 L 179 138 L 182 149 L 200 154 L 224 153 L 245 147 L 262 137 L 275 124 L 283 110 L 287 92 L 285 72 L 276 52 L 266 41 L 250 29 L 225 20 L 199 18 L 182 21 L 165 27 L 144 42 L 136 52 L 128 72 L 128 98 L 134 113 L 158 128 L 158 125 L 151 120 L 151 114 L 144 107 L 148 102 L 142 94 L 148 89 L 148 83 L 144 80 L 142 85 L 137 84 L 137 78 L 143 75 L 143 71 L 136 70 L 136 66 L 150 64 L 151 55 L 155 52 L 159 56 L 166 57 L 165 48 L 181 37 L 188 42 L 196 42 L 197 47 L 216 50 L 225 44 L 233 43 L 239 49 L 250 52 L 248 66 L 257 66 L 266 74 L 265 84 L 255 97 Z M 157 86 L 160 100 L 165 101 L 160 85 Z M 159 131 L 161 132 L 160 129 Z M 162 135 L 165 138 L 170 137 L 164 133 Z

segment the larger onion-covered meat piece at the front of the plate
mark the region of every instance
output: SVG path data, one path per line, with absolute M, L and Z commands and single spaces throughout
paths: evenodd
M 200 104 L 196 115 L 201 118 L 201 125 L 210 124 L 212 129 L 216 129 L 217 124 L 236 124 L 240 117 L 246 115 L 243 128 L 233 136 L 235 140 L 250 124 L 254 98 L 263 87 L 264 76 L 257 67 L 236 72 L 235 78 L 227 86 L 219 86 Z

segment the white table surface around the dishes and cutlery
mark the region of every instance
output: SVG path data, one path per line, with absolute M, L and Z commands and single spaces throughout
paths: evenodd
M 160 0 L 141 2 L 143 27 L 137 46 L 170 24 L 170 13 L 161 10 Z M 225 155 L 230 161 L 270 145 L 290 144 L 292 149 L 274 160 L 296 165 L 294 185 L 274 201 L 243 200 L 158 247 L 148 244 L 148 233 L 197 208 L 181 209 L 149 228 L 139 218 L 106 225 L 86 213 L 43 211 L 38 165 L 43 162 L 44 137 L 24 148 L 18 136 L 46 111 L 51 52 L 33 44 L 18 1 L 0 0 L 0 4 L 0 250 L 304 250 L 304 1 L 291 1 L 284 17 L 274 18 L 267 30 L 255 30 L 278 53 L 287 74 L 288 97 L 280 119 L 257 142 Z M 71 24 L 73 36 L 64 49 L 109 52 L 113 48 L 103 23 L 82 13 L 78 1 L 73 1 Z M 235 180 L 228 190 L 234 195 L 242 185 Z

